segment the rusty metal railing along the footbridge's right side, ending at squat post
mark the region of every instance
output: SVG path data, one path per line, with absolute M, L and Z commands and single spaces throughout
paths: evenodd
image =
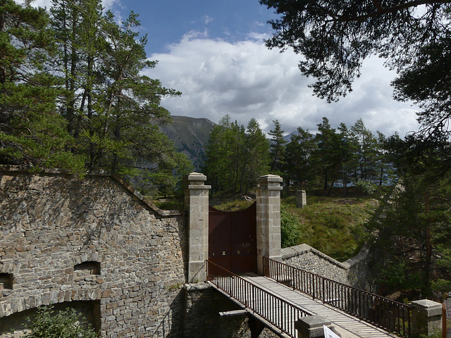
M 383 330 L 411 337 L 412 306 L 264 257 L 264 275 Z

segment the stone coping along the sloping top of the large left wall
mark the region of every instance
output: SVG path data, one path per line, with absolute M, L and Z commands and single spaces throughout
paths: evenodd
M 67 170 L 60 170 L 60 169 L 48 169 L 48 168 L 35 168 L 32 166 L 24 166 L 24 165 L 0 165 L 0 174 L 1 173 L 8 173 L 11 175 L 17 175 L 17 174 L 28 174 L 28 175 L 48 175 L 48 176 L 58 176 L 58 175 L 70 175 L 73 176 L 70 172 Z M 126 191 L 128 191 L 130 194 L 132 194 L 136 199 L 141 201 L 145 206 L 147 206 L 149 209 L 154 211 L 154 213 L 157 213 L 160 216 L 178 216 L 182 213 L 178 210 L 162 210 L 159 207 L 157 207 L 155 204 L 153 204 L 149 199 L 146 199 L 140 192 L 137 191 L 137 189 L 133 188 L 128 182 L 123 180 L 118 175 L 106 172 L 105 170 L 95 170 L 95 171 L 88 171 L 86 173 L 87 177 L 109 177 L 112 180 L 116 181 L 118 184 L 123 187 Z M 75 176 L 74 176 L 75 177 Z

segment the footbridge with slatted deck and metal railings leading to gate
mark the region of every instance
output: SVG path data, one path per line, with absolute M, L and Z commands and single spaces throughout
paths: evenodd
M 206 265 L 209 284 L 280 337 L 301 337 L 296 323 L 312 315 L 329 320 L 342 338 L 412 337 L 412 306 L 269 258 L 264 276 Z

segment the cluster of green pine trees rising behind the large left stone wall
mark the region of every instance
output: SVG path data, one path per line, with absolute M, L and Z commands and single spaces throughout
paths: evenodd
M 171 120 L 160 103 L 180 92 L 142 74 L 157 62 L 138 27 L 136 13 L 118 23 L 101 0 L 52 0 L 49 13 L 0 1 L 0 163 L 174 187 L 190 164 L 159 130 Z

